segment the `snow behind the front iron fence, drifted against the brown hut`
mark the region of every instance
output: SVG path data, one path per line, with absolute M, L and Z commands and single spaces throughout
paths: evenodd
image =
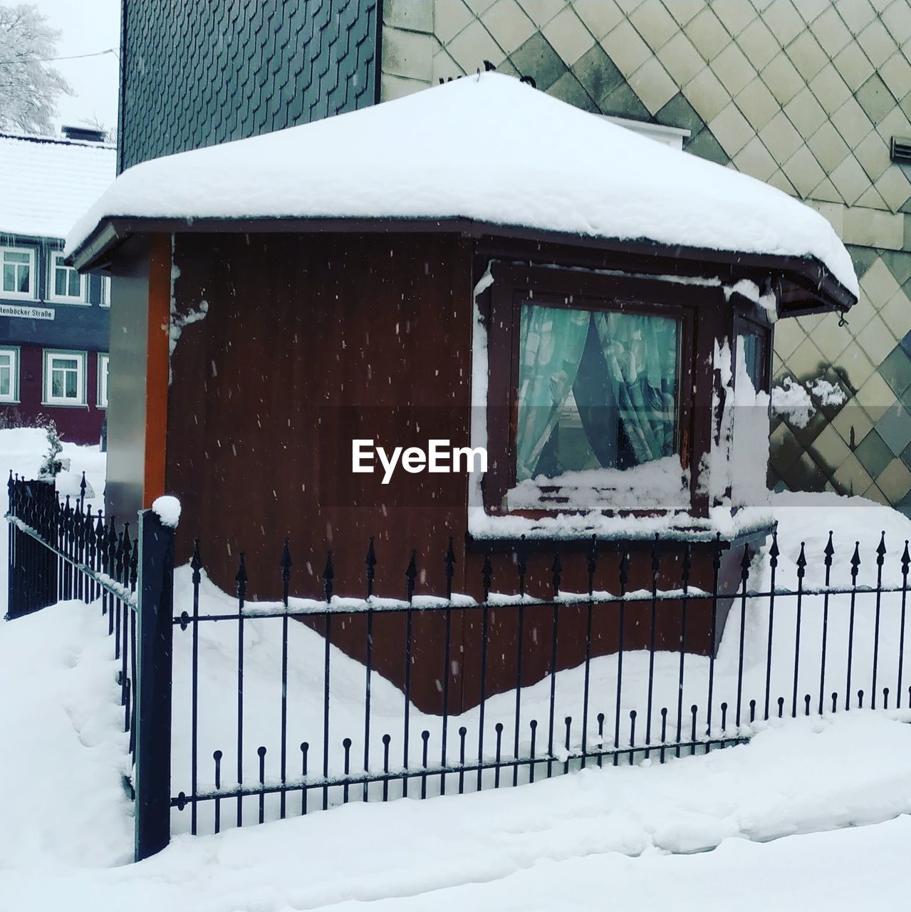
M 809 561 L 804 586 L 822 586 L 824 582 L 823 549 L 828 533 L 833 529 L 835 558 L 832 582 L 835 585 L 850 585 L 849 557 L 854 549 L 855 536 L 862 540 L 860 547 L 861 586 L 873 586 L 876 581 L 875 548 L 880 534 L 885 531 L 887 554 L 883 568 L 884 586 L 901 586 L 901 550 L 904 542 L 911 537 L 911 523 L 900 513 L 881 507 L 861 498 L 839 499 L 833 495 L 776 495 L 773 508 L 780 520 L 779 544 L 782 554 L 779 558 L 776 586 L 779 589 L 797 588 L 797 565 L 801 543 Z M 767 556 L 767 555 L 766 555 Z M 751 577 L 751 587 L 767 589 L 771 574 L 767 560 L 757 560 Z M 497 596 L 492 596 L 496 598 Z M 192 613 L 192 587 L 190 572 L 181 568 L 175 580 L 176 610 Z M 339 603 L 343 600 L 336 599 Z M 844 710 L 848 680 L 848 653 L 851 653 L 850 705 L 860 702 L 858 691 L 864 693 L 864 706 L 869 706 L 876 674 L 876 704 L 882 708 L 885 703 L 884 689 L 889 689 L 888 707 L 894 709 L 896 692 L 901 693 L 901 711 L 907 716 L 911 696 L 911 662 L 900 665 L 899 644 L 902 641 L 902 596 L 901 593 L 885 593 L 880 599 L 880 610 L 876 615 L 876 599 L 871 592 L 862 592 L 854 599 L 854 621 L 852 623 L 852 599 L 849 595 L 830 596 L 826 602 L 822 596 L 805 596 L 802 599 L 800 615 L 800 649 L 795 656 L 795 640 L 798 630 L 797 599 L 793 596 L 778 596 L 774 602 L 772 625 L 771 667 L 769 658 L 769 617 L 770 600 L 767 597 L 751 597 L 744 606 L 735 600 L 725 628 L 719 655 L 711 667 L 709 659 L 688 654 L 684 659 L 683 688 L 678 693 L 680 658 L 677 652 L 657 652 L 654 661 L 652 692 L 652 743 L 660 741 L 662 710 L 667 710 L 667 731 L 669 738 L 676 734 L 678 724 L 678 699 L 682 707 L 680 724 L 684 740 L 692 729 L 690 707 L 698 707 L 697 737 L 704 738 L 709 722 L 708 691 L 709 676 L 712 677 L 711 734 L 734 738 L 746 737 L 762 731 L 765 691 L 770 686 L 770 712 L 790 715 L 794 702 L 794 669 L 797 668 L 796 705 L 797 712 L 806 711 L 806 697 L 810 697 L 810 711 L 817 712 L 820 704 L 820 685 L 823 685 L 823 709 L 832 709 L 832 694 L 836 693 L 839 711 Z M 303 600 L 292 599 L 290 613 L 299 610 Z M 416 600 L 418 612 L 421 600 Z M 248 603 L 247 609 L 255 611 L 276 605 Z M 230 615 L 236 610 L 236 601 L 207 580 L 201 588 L 201 614 Z M 515 606 L 494 609 L 515 611 Z M 595 606 L 595 610 L 608 611 L 616 616 L 615 606 Z M 678 610 L 672 608 L 671 610 Z M 737 726 L 736 707 L 738 700 L 738 675 L 740 671 L 740 620 L 744 621 L 742 687 L 740 688 L 741 718 Z M 825 622 L 825 662 L 823 666 L 823 621 Z M 526 619 L 525 637 L 533 637 L 533 625 Z M 222 752 L 222 781 L 232 787 L 237 780 L 237 704 L 231 695 L 237 689 L 237 625 L 235 622 L 205 622 L 200 625 L 200 685 L 199 706 L 200 726 L 198 734 L 199 786 L 202 791 L 212 789 L 214 782 L 214 751 Z M 911 656 L 911 618 L 907 618 L 904 631 L 905 654 Z M 192 693 L 190 668 L 192 648 L 192 627 L 174 630 L 174 753 L 173 793 L 191 792 L 191 703 Z M 279 617 L 248 618 L 244 621 L 244 715 L 243 715 L 243 782 L 250 788 L 258 784 L 259 757 L 257 749 L 262 745 L 267 752 L 264 758 L 265 781 L 280 782 L 281 772 L 281 706 L 282 706 L 282 621 Z M 351 770 L 356 773 L 363 769 L 364 755 L 364 692 L 365 672 L 362 665 L 353 661 L 337 648 L 330 650 L 330 705 L 331 722 L 329 741 L 329 770 L 336 774 L 343 769 L 343 740 L 351 740 Z M 874 662 L 876 657 L 876 663 Z M 603 713 L 605 741 L 613 746 L 615 739 L 620 748 L 630 743 L 630 712 L 637 712 L 637 746 L 645 743 L 647 726 L 647 697 L 649 665 L 651 657 L 647 650 L 627 651 L 624 654 L 621 684 L 620 726 L 617 731 L 616 693 L 618 663 L 616 655 L 594 658 L 589 669 L 590 700 L 588 708 L 587 746 L 597 743 L 598 714 Z M 824 668 L 824 678 L 823 678 Z M 769 672 L 771 671 L 771 675 Z M 291 623 L 288 629 L 288 680 L 287 698 L 287 748 L 286 765 L 288 778 L 293 780 L 301 770 L 300 744 L 308 744 L 308 769 L 311 775 L 319 774 L 323 768 L 324 718 L 322 693 L 325 684 L 325 640 L 309 627 Z M 900 684 L 899 684 L 900 681 Z M 570 748 L 582 747 L 582 715 L 585 667 L 567 669 L 557 675 L 554 710 L 554 753 L 564 756 L 564 719 L 572 717 Z M 551 679 L 540 680 L 522 691 L 521 720 L 519 726 L 520 755 L 530 756 L 531 721 L 538 724 L 535 756 L 546 754 L 549 736 L 548 717 Z M 403 699 L 399 689 L 376 672 L 371 677 L 371 716 L 369 768 L 378 772 L 383 763 L 383 737 L 390 737 L 390 768 L 402 765 L 405 756 L 403 731 Z M 757 721 L 750 723 L 751 701 L 754 702 Z M 487 700 L 484 716 L 483 753 L 487 760 L 493 760 L 496 751 L 496 727 L 502 725 L 502 754 L 512 756 L 515 740 L 515 694 L 496 694 Z M 725 715 L 722 704 L 726 704 Z M 422 713 L 409 707 L 410 729 L 408 756 L 412 766 L 419 763 L 422 755 L 422 733 L 428 731 L 430 764 L 440 761 L 442 732 L 440 717 Z M 722 720 L 726 724 L 722 730 Z M 447 741 L 447 759 L 458 760 L 460 742 L 457 732 L 461 727 L 467 730 L 466 757 L 473 762 L 478 756 L 479 712 L 468 710 L 460 716 L 451 716 Z M 637 759 L 641 759 L 637 755 Z M 623 762 L 627 762 L 626 757 Z M 573 762 L 575 767 L 577 762 Z M 546 772 L 546 762 L 539 762 L 535 778 L 540 779 Z M 520 782 L 529 778 L 529 767 L 523 765 L 519 771 Z M 512 773 L 503 774 L 511 780 Z M 475 787 L 476 774 L 465 777 L 466 788 Z M 494 773 L 484 773 L 485 782 L 492 783 Z M 458 776 L 449 774 L 447 791 L 451 792 L 458 782 Z M 376 799 L 381 791 L 380 784 L 371 787 L 371 797 Z M 401 783 L 392 782 L 389 793 L 398 795 Z M 418 781 L 413 780 L 412 792 L 418 790 Z M 351 789 L 352 800 L 359 800 L 361 787 Z M 430 775 L 427 781 L 430 795 L 440 792 L 440 776 Z M 310 793 L 311 806 L 318 803 L 321 794 Z M 329 790 L 329 802 L 341 803 L 342 789 Z M 299 807 L 298 800 L 289 799 L 290 806 Z M 223 802 L 222 825 L 233 825 L 235 804 Z M 258 798 L 250 796 L 243 800 L 243 814 L 247 821 L 255 819 Z M 279 816 L 279 797 L 267 795 L 264 799 L 264 813 L 267 820 Z M 212 832 L 213 803 L 199 805 L 200 832 Z M 176 809 L 172 812 L 174 832 L 188 832 L 190 812 Z

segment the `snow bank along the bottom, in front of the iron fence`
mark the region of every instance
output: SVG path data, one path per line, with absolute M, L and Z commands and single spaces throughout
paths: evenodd
M 219 836 L 180 836 L 160 855 L 113 870 L 0 872 L 0 895 L 17 912 L 354 912 L 366 903 L 390 912 L 603 909 L 606 896 L 609 905 L 623 898 L 641 907 L 647 896 L 648 908 L 705 910 L 730 905 L 731 891 L 738 908 L 763 912 L 865 908 L 875 890 L 855 906 L 815 900 L 845 872 L 849 885 L 860 876 L 869 890 L 876 886 L 870 870 L 895 868 L 896 894 L 906 891 L 902 853 L 911 821 L 772 845 L 747 840 L 871 824 L 911 809 L 909 750 L 911 728 L 895 721 L 798 720 L 746 747 L 663 767 L 589 769 L 424 802 L 349 804 Z M 93 827 L 73 838 L 95 834 Z M 801 840 L 821 846 L 805 869 Z M 829 847 L 844 840 L 854 848 L 839 862 Z M 720 854 L 678 854 L 715 846 Z M 771 876 L 778 868 L 766 865 L 774 852 L 784 885 Z M 783 901 L 769 902 L 769 892 Z M 793 901 L 798 896 L 810 901 Z

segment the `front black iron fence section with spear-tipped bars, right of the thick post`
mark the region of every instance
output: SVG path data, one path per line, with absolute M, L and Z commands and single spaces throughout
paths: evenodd
M 870 709 L 911 709 L 911 686 L 903 667 L 911 564 L 907 545 L 900 559 L 900 586 L 883 583 L 885 536 L 879 545 L 874 584 L 859 581 L 861 561 L 855 547 L 851 584 L 833 585 L 831 534 L 828 547 L 820 555 L 824 573 L 821 585 L 804 587 L 807 556 L 802 547 L 794 585 L 781 586 L 776 578 L 780 557 L 776 534 L 768 552 L 769 586 L 749 585 L 755 554 L 748 545 L 743 549 L 740 586 L 736 589 L 719 588 L 719 552 L 712 590 L 691 588 L 688 549 L 681 565 L 680 585 L 668 592 L 657 587 L 662 543 L 656 539 L 651 554 L 651 590 L 630 593 L 629 554 L 622 554 L 618 564 L 608 565 L 599 561 L 594 544 L 591 554 L 576 558 L 586 562 L 586 593 L 561 590 L 562 562 L 571 558 L 557 555 L 551 598 L 497 594 L 493 588 L 497 582 L 509 593 L 524 593 L 525 561 L 519 553 L 502 557 L 496 569 L 490 557 L 485 561 L 481 571 L 484 598 L 477 601 L 452 592 L 455 558 L 451 543 L 440 555 L 446 567 L 445 595 L 415 596 L 418 574 L 412 554 L 404 575 L 404 597 L 378 598 L 373 593 L 377 557 L 371 542 L 366 558 L 366 595 L 356 600 L 336 596 L 330 554 L 323 572 L 325 599 L 319 602 L 289 597 L 292 561 L 285 542 L 276 562 L 281 575 L 280 602 L 247 602 L 248 577 L 242 554 L 234 609 L 217 611 L 201 610 L 202 560 L 197 544 L 192 559 L 192 608 L 187 606 L 174 618 L 180 631 L 176 636 L 189 637 L 183 651 L 191 668 L 185 682 L 189 692 L 178 696 L 181 703 L 190 706 L 186 731 L 190 749 L 186 755 L 175 756 L 175 785 L 183 787 L 175 789 L 172 806 L 180 813 L 189 809 L 190 832 L 218 832 L 225 825 L 263 823 L 349 801 L 387 801 L 407 795 L 423 798 L 534 782 L 590 763 L 616 766 L 649 758 L 664 762 L 670 756 L 742 743 L 751 737 L 757 723 L 784 716 L 822 715 L 864 705 Z M 603 577 L 611 578 L 608 581 Z M 608 582 L 613 592 L 606 591 Z M 884 649 L 881 627 L 885 596 L 890 599 L 892 638 Z M 714 650 L 708 656 L 687 651 L 688 631 L 697 608 L 707 607 L 714 640 L 718 606 L 726 599 L 733 601 L 728 623 L 734 625 L 731 635 L 737 648 L 729 650 L 723 669 L 719 669 L 721 657 Z M 838 617 L 833 613 L 836 604 Z M 624 642 L 626 614 L 636 606 L 647 611 L 645 649 L 630 649 Z M 558 671 L 563 648 L 561 620 L 564 612 L 573 609 L 585 616 L 585 658 L 579 668 Z M 539 633 L 542 617 L 546 618 L 552 655 L 543 678 L 529 687 L 523 686 L 523 657 L 531 642 L 533 612 L 537 613 L 534 623 Z M 666 622 L 668 612 L 679 625 L 672 649 L 659 647 L 656 641 L 657 623 L 660 618 Z M 745 630 L 748 618 L 756 615 L 767 619 L 768 633 L 762 655 L 748 657 Z M 481 630 L 480 654 L 474 657 L 480 701 L 474 710 L 459 717 L 448 713 L 446 692 L 450 686 L 446 671 L 456 654 L 451 633 L 454 617 L 472 617 Z M 429 623 L 436 623 L 435 629 L 442 631 L 441 714 L 416 710 L 409 693 L 419 618 L 425 632 Z M 289 637 L 289 630 L 295 631 L 294 626 L 289 627 L 292 619 L 305 621 L 306 641 L 301 636 Z M 390 629 L 399 632 L 398 646 L 391 651 L 404 665 L 404 686 L 397 690 L 399 708 L 394 717 L 390 720 L 386 700 L 378 720 L 377 689 L 387 685 L 388 691 L 388 681 L 380 679 L 374 668 L 376 637 L 378 624 L 388 621 L 393 623 L 386 628 L 387 637 Z M 616 625 L 618 649 L 613 656 L 593 655 L 593 622 Z M 356 672 L 362 683 L 357 693 L 350 685 L 352 660 L 335 648 L 335 631 L 347 625 L 350 643 L 352 624 L 359 624 L 363 636 L 357 666 L 360 670 Z M 232 712 L 224 710 L 219 717 L 217 733 L 210 732 L 203 739 L 201 722 L 212 705 L 201 698 L 207 659 L 201 658 L 200 645 L 206 632 L 216 626 L 223 647 L 231 641 L 236 644 L 229 658 L 233 662 L 236 657 L 232 686 L 235 702 Z M 295 632 L 304 632 L 302 626 L 296 627 Z M 498 627 L 512 631 L 509 642 L 514 650 L 509 660 L 516 670 L 515 687 L 505 694 L 496 694 L 487 686 L 492 661 L 502 664 L 507 660 L 502 653 L 493 659 L 490 655 L 493 632 Z M 892 634 L 894 627 L 897 636 Z M 251 705 L 245 694 L 245 652 L 251 642 L 261 644 L 266 637 L 274 637 L 270 670 L 275 677 L 273 699 L 277 705 L 258 698 Z M 322 638 L 318 653 L 315 637 Z M 181 640 L 176 642 L 180 644 Z M 502 648 L 502 638 L 497 644 Z M 388 638 L 384 649 L 390 651 Z M 342 664 L 342 678 L 347 680 L 345 692 L 336 688 L 337 663 Z M 289 669 L 302 666 L 309 667 L 311 677 L 318 679 L 311 680 L 308 691 L 311 710 L 314 695 L 320 694 L 318 711 L 307 712 L 301 700 L 289 706 L 293 698 Z M 572 680 L 564 680 L 567 676 Z M 219 695 L 224 700 L 223 689 Z M 340 704 L 347 710 L 343 720 L 336 718 Z M 352 718 L 352 704 L 357 719 Z M 262 718 L 268 713 L 273 715 L 274 724 L 264 727 Z M 258 733 L 251 733 L 251 725 Z M 230 807 L 227 816 L 225 802 Z M 182 825 L 180 816 L 175 823 Z

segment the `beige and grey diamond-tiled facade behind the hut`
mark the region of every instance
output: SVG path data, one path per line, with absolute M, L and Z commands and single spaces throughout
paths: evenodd
M 388 65 L 398 32 L 419 66 Z M 846 325 L 777 327 L 774 376 L 816 410 L 773 420 L 770 480 L 911 513 L 911 169 L 889 156 L 911 137 L 911 0 L 387 0 L 382 59 L 384 98 L 489 60 L 582 109 L 690 130 L 689 152 L 823 212 L 861 299 Z

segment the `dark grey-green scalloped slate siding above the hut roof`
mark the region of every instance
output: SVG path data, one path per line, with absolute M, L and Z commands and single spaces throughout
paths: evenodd
M 123 0 L 119 171 L 376 101 L 381 0 Z

